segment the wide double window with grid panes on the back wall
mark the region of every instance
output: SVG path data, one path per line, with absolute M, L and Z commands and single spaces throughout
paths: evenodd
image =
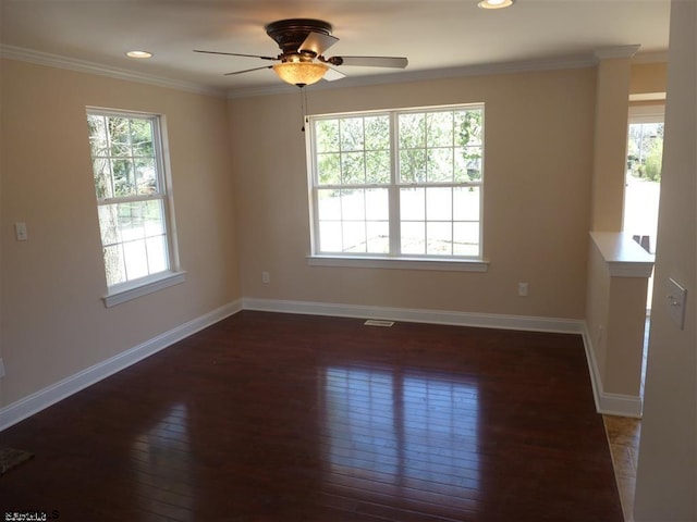
M 481 104 L 309 123 L 313 254 L 481 259 Z

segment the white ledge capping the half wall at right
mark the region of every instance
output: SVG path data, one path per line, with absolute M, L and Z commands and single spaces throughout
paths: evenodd
M 650 277 L 653 256 L 622 232 L 591 232 L 590 237 L 612 277 Z

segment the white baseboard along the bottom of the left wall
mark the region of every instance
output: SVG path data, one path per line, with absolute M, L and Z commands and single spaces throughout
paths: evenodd
M 242 299 L 181 324 L 0 409 L 0 431 L 242 310 Z

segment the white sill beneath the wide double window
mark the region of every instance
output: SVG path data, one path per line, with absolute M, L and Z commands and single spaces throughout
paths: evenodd
M 470 259 L 424 259 L 424 258 L 368 258 L 308 256 L 310 266 L 340 266 L 354 269 L 433 270 L 443 272 L 487 272 L 489 262 Z

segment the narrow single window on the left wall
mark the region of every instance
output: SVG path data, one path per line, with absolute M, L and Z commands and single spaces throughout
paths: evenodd
M 109 306 L 169 286 L 176 269 L 162 134 L 150 114 L 88 110 L 87 124 Z

